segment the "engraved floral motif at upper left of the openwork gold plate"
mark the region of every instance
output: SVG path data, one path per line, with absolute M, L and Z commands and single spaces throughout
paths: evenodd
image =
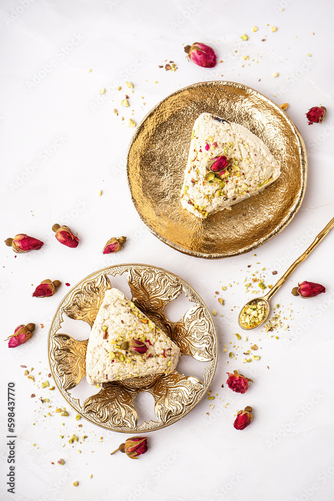
M 92 327 L 107 289 L 111 289 L 111 284 L 106 275 L 86 282 L 75 291 L 63 312 L 74 320 L 84 320 Z

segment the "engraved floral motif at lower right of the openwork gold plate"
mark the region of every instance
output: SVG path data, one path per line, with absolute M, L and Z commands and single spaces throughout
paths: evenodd
M 184 376 L 177 371 L 161 376 L 154 389 L 155 414 L 163 423 L 184 413 L 194 397 L 205 390 L 204 383 L 194 376 Z

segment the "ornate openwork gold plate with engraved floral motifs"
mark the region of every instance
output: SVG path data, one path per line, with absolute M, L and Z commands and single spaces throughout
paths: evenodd
M 112 287 L 108 275 L 126 273 L 132 300 L 179 346 L 182 355 L 204 362 L 203 381 L 184 376 L 176 370 L 169 374 L 129 378 L 92 386 L 92 395 L 80 404 L 69 390 L 86 376 L 88 339 L 78 341 L 62 332 L 64 315 L 93 326 L 105 291 Z M 178 322 L 165 316 L 168 303 L 182 294 L 195 303 Z M 150 265 L 114 265 L 93 273 L 77 284 L 64 298 L 52 321 L 49 333 L 51 373 L 67 402 L 83 417 L 104 428 L 129 432 L 147 432 L 163 428 L 185 416 L 203 398 L 209 388 L 218 357 L 218 339 L 211 314 L 186 282 L 161 268 Z M 142 391 L 153 395 L 157 421 L 138 425 L 134 399 Z

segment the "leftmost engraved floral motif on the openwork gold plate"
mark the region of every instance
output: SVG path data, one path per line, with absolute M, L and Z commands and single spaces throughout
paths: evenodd
M 86 352 L 88 339 L 76 341 L 67 334 L 54 337 L 55 370 L 63 378 L 63 388 L 70 390 L 86 376 Z

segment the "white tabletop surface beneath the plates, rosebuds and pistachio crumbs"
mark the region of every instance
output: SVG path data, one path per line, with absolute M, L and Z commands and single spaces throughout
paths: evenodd
M 294 320 L 288 321 L 289 331 L 279 332 L 278 340 L 255 331 L 248 342 L 238 342 L 233 333 L 240 332 L 237 312 L 248 299 L 243 277 L 264 267 L 265 282 L 274 282 L 271 271 L 277 270 L 279 278 L 333 216 L 332 5 L 310 0 L 3 0 L 0 7 L 2 239 L 25 232 L 45 242 L 41 251 L 16 258 L 10 248 L 1 246 L 3 338 L 21 323 L 38 326 L 24 346 L 9 350 L 7 343 L 3 345 L 1 499 L 331 499 L 334 233 L 274 299 L 285 307 L 292 304 Z M 271 33 L 271 26 L 277 26 L 277 32 Z M 249 37 L 247 42 L 240 39 L 243 33 Z M 261 41 L 264 37 L 266 42 Z M 195 41 L 211 45 L 218 61 L 224 62 L 211 70 L 188 63 L 182 44 Z M 242 55 L 249 60 L 244 61 Z M 177 64 L 176 72 L 158 68 L 166 59 Z M 43 65 L 49 72 L 30 85 Z M 273 72 L 279 77 L 273 78 Z M 113 109 L 123 113 L 125 122 L 135 110 L 132 118 L 139 123 L 171 92 L 214 79 L 241 82 L 277 104 L 289 103 L 287 113 L 307 148 L 308 183 L 302 207 L 279 235 L 256 253 L 211 262 L 177 253 L 141 223 L 125 172 L 134 129 L 122 124 Z M 135 84 L 133 95 L 126 80 Z M 115 91 L 115 85 L 121 85 L 122 91 Z M 109 91 L 100 96 L 103 87 Z M 125 93 L 131 105 L 123 110 L 120 101 Z M 320 103 L 327 108 L 325 121 L 308 126 L 304 114 Z M 25 172 L 29 175 L 21 183 Z M 102 196 L 98 196 L 100 189 Z M 78 231 L 77 249 L 56 241 L 51 231 L 55 222 Z M 123 234 L 128 242 L 122 252 L 103 257 L 105 242 Z M 220 339 L 212 384 L 212 395 L 218 393 L 220 399 L 203 399 L 184 419 L 150 433 L 149 451 L 136 462 L 125 454 L 109 455 L 126 435 L 108 433 L 83 418 L 78 422 L 69 408 L 69 417 L 56 414 L 55 408 L 65 405 L 58 390 L 41 389 L 20 367 L 35 367 L 36 381 L 46 379 L 48 326 L 69 290 L 65 282 L 74 286 L 95 270 L 128 262 L 157 265 L 188 281 L 210 309 L 218 311 L 215 322 Z M 52 298 L 32 298 L 34 287 L 46 278 L 61 280 L 63 285 Z M 326 294 L 308 302 L 294 298 L 292 285 L 303 280 L 322 283 Z M 223 293 L 225 306 L 221 307 L 214 291 L 227 283 L 232 288 Z M 224 317 L 219 316 L 221 312 Z M 235 341 L 240 346 L 232 348 L 237 360 L 230 360 L 226 355 Z M 261 348 L 261 360 L 242 364 L 242 352 L 254 342 Z M 227 353 L 223 353 L 224 344 Z M 245 395 L 232 393 L 226 384 L 221 388 L 226 370 L 234 369 L 254 379 Z M 8 381 L 15 381 L 17 390 L 14 495 L 7 493 L 5 479 Z M 36 398 L 30 397 L 33 392 Z M 38 400 L 42 395 L 51 395 L 50 409 Z M 237 431 L 232 426 L 234 415 L 246 405 L 254 409 L 253 422 Z M 87 441 L 70 445 L 68 435 L 79 430 L 79 436 L 88 435 Z M 64 466 L 57 464 L 61 457 Z M 78 487 L 72 485 L 75 480 Z

